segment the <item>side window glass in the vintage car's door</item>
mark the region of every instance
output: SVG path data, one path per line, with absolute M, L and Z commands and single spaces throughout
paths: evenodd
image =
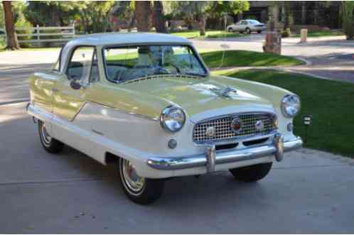
M 95 48 L 93 47 L 79 47 L 73 52 L 68 65 L 69 79 L 81 80 L 88 82 L 91 73 L 91 65 Z

